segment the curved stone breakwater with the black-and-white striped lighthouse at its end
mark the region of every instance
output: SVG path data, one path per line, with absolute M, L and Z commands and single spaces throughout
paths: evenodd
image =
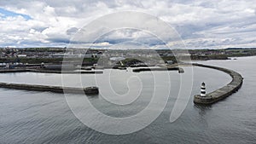
M 217 101 L 220 101 L 220 100 L 226 98 L 227 96 L 235 93 L 238 89 L 241 88 L 243 78 L 241 77 L 241 74 L 239 74 L 237 72 L 234 72 L 232 70 L 229 70 L 229 69 L 226 69 L 223 67 L 218 67 L 218 66 L 207 66 L 207 65 L 197 64 L 197 63 L 193 63 L 192 65 L 212 68 L 212 69 L 216 69 L 216 70 L 219 70 L 222 72 L 226 72 L 232 78 L 232 81 L 229 84 L 207 94 L 204 97 L 202 97 L 201 95 L 195 95 L 194 96 L 195 104 L 206 104 L 206 105 L 212 104 L 214 102 L 217 102 Z

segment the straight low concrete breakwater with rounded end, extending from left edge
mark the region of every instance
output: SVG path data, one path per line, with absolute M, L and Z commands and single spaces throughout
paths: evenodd
M 6 89 L 24 89 L 32 91 L 49 91 L 54 93 L 71 93 L 71 94 L 89 94 L 96 95 L 98 94 L 97 87 L 88 87 L 88 88 L 73 88 L 73 87 L 61 87 L 61 86 L 49 86 L 49 85 L 34 85 L 34 84 L 9 84 L 9 83 L 0 83 L 1 88 Z M 90 89 L 91 88 L 91 89 Z

